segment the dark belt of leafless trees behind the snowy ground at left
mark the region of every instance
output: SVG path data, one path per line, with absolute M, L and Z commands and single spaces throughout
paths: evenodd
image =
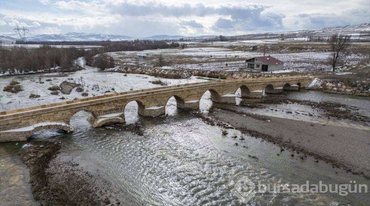
M 74 62 L 78 57 L 84 57 L 88 65 L 108 68 L 114 65 L 114 61 L 112 58 L 103 54 L 106 52 L 141 51 L 180 46 L 179 43 L 175 42 L 166 43 L 165 41 L 148 40 L 110 42 L 109 45 L 91 49 L 78 47 L 57 48 L 46 43 L 40 45 L 38 48 L 27 48 L 24 46 L 4 47 L 0 45 L 0 72 L 2 74 L 22 74 L 38 71 L 51 72 L 50 69 L 53 67 L 60 67 L 62 70 L 67 70 L 76 66 Z M 107 44 L 107 41 L 100 43 L 101 45 Z M 93 58 L 96 55 L 97 57 Z

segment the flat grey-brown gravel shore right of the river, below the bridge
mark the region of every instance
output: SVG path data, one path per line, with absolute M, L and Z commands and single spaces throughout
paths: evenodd
M 270 121 L 215 109 L 210 117 L 245 133 L 300 151 L 370 178 L 370 130 L 268 117 Z

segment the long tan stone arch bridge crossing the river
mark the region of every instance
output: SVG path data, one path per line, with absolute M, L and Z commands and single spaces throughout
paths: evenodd
M 99 127 L 104 124 L 125 123 L 124 110 L 131 101 L 138 103 L 140 115 L 157 116 L 165 114 L 166 103 L 171 97 L 175 97 L 179 108 L 198 109 L 200 98 L 206 91 L 210 91 L 214 102 L 235 103 L 235 92 L 239 88 L 242 97 L 261 98 L 263 92 L 297 90 L 309 80 L 308 76 L 292 76 L 196 82 L 3 111 L 0 112 L 0 142 L 25 141 L 41 129 L 72 131 L 70 120 L 79 111 L 91 112 L 88 121 L 94 127 Z

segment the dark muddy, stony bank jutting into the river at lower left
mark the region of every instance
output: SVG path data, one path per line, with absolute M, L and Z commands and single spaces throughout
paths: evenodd
M 59 159 L 60 148 L 60 142 L 37 141 L 21 154 L 30 168 L 32 193 L 41 206 L 121 204 L 111 194 L 108 183 L 85 171 L 73 159 Z

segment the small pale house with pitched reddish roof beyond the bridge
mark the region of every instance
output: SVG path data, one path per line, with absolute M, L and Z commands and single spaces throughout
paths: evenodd
M 272 56 L 259 56 L 245 60 L 246 68 L 260 70 L 262 72 L 281 70 L 284 62 Z

